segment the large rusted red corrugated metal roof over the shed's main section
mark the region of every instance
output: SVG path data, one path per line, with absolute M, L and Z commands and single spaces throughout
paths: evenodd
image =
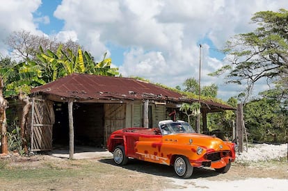
M 182 94 L 134 78 L 90 74 L 71 74 L 33 88 L 31 93 L 76 99 L 185 99 Z

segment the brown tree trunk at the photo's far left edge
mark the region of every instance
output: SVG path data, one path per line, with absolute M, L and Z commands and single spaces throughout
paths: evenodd
M 3 79 L 0 77 L 0 123 L 1 123 L 1 146 L 2 153 L 8 153 L 7 127 L 6 127 L 6 108 L 7 101 L 3 97 Z

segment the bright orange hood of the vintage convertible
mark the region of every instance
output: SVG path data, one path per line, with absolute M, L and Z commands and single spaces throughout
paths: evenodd
M 173 141 L 177 144 L 191 144 L 206 149 L 230 150 L 230 147 L 223 140 L 210 135 L 198 133 L 178 133 L 163 136 L 163 141 Z

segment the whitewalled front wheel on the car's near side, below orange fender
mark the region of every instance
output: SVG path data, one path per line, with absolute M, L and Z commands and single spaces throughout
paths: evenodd
M 174 162 L 174 170 L 177 176 L 181 178 L 189 178 L 193 173 L 193 167 L 185 156 L 177 156 Z

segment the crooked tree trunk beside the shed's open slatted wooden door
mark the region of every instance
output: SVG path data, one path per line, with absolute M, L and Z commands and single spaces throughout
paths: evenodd
M 21 129 L 21 141 L 22 141 L 22 148 L 24 152 L 28 154 L 28 142 L 27 142 L 27 131 L 25 128 L 25 124 L 27 121 L 27 117 L 29 114 L 29 109 L 31 108 L 32 103 L 30 102 L 30 98 L 26 94 L 19 94 L 19 100 L 24 102 L 24 106 L 22 108 L 22 119 L 20 121 L 20 129 Z

